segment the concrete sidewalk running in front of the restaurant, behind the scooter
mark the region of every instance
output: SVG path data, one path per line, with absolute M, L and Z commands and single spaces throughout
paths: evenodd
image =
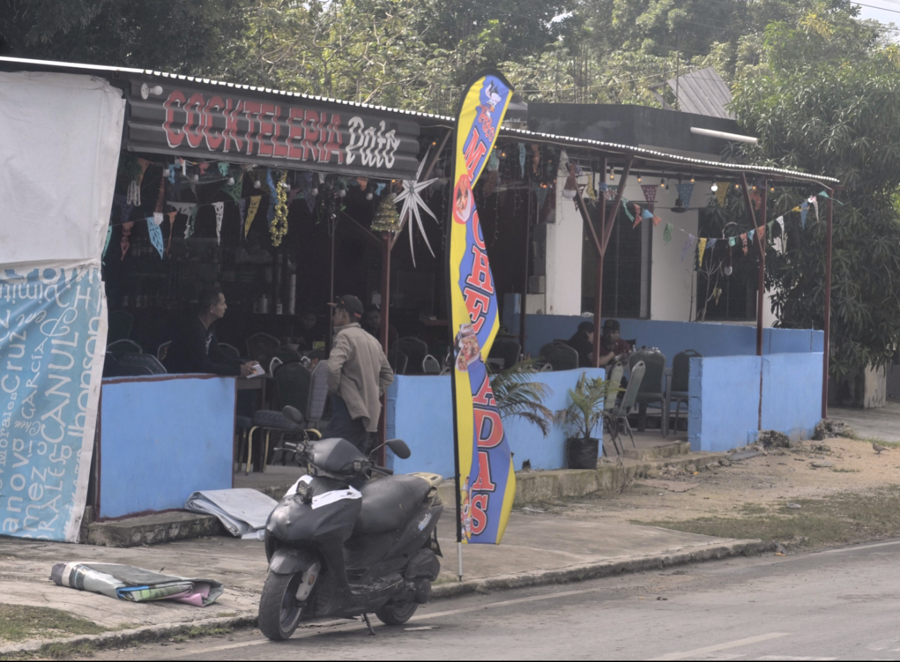
M 442 561 L 435 597 L 491 588 L 554 584 L 694 560 L 759 553 L 759 541 L 734 541 L 651 526 L 583 522 L 515 511 L 500 546 L 464 547 L 464 582 L 456 580 L 453 517 L 439 525 Z M 219 579 L 226 586 L 206 608 L 166 602 L 136 604 L 56 586 L 49 571 L 59 561 L 127 563 L 184 576 Z M 161 636 L 184 625 L 250 625 L 266 578 L 260 541 L 211 536 L 151 547 L 114 548 L 0 538 L 0 602 L 65 610 L 110 629 L 71 640 Z M 133 634 L 132 634 L 133 633 Z M 0 656 L 35 650 L 47 640 L 3 645 Z

